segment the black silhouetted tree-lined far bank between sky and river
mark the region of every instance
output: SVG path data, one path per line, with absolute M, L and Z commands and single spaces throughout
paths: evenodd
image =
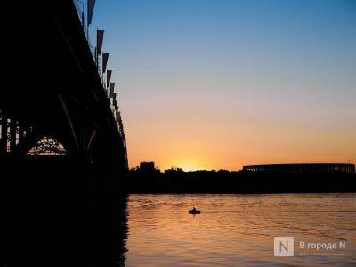
M 169 169 L 164 173 L 130 171 L 129 193 L 286 193 L 355 192 L 356 174 L 349 172 L 239 172 Z

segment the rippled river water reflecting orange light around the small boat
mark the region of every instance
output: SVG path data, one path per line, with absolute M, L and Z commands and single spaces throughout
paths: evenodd
M 127 266 L 356 264 L 356 194 L 130 195 L 127 214 Z

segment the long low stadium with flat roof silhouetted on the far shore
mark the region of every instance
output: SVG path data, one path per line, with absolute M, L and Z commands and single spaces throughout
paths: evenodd
M 351 163 L 283 163 L 243 166 L 244 171 L 284 174 L 355 174 L 355 165 Z

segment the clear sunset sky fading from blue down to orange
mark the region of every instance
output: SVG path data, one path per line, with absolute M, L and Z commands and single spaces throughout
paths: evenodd
M 98 0 L 130 167 L 356 161 L 356 2 Z

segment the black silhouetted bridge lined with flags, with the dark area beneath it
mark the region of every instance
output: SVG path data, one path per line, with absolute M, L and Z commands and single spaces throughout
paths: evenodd
M 93 46 L 93 10 L 81 4 L 7 1 L 2 8 L 11 14 L 2 16 L 0 41 L 4 263 L 74 258 L 104 266 L 115 258 L 125 132 L 103 32 Z

